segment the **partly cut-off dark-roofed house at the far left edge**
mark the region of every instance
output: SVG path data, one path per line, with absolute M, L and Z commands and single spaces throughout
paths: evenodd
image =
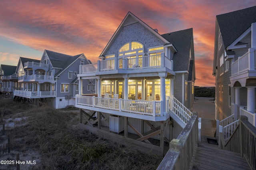
M 1 94 L 12 94 L 18 82 L 15 73 L 17 66 L 4 65 L 0 66 L 0 92 Z

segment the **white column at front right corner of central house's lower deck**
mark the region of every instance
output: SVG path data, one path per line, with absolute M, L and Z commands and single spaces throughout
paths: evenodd
M 160 77 L 160 101 L 161 101 L 161 115 L 166 113 L 166 99 L 165 99 L 165 77 L 167 73 L 158 73 Z

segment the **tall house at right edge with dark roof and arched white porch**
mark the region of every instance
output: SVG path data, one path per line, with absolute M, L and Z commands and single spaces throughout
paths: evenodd
M 238 118 L 241 111 L 255 113 L 255 22 L 256 6 L 216 16 L 215 119 L 222 120 L 232 114 Z

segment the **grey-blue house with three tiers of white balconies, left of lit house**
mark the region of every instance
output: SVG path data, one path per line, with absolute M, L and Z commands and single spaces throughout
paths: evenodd
M 20 57 L 16 72 L 18 89 L 14 99 L 30 103 L 46 103 L 55 109 L 75 105 L 78 94 L 77 73 L 79 65 L 90 64 L 84 54 L 75 56 L 44 50 L 41 60 Z M 85 80 L 84 85 L 93 86 L 95 80 Z M 83 93 L 92 93 L 83 88 Z

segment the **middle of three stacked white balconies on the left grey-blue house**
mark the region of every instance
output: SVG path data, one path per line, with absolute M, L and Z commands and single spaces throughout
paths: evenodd
M 38 81 L 39 83 L 44 82 L 54 82 L 54 76 L 53 75 L 22 75 L 18 79 L 19 82 L 24 81 Z

